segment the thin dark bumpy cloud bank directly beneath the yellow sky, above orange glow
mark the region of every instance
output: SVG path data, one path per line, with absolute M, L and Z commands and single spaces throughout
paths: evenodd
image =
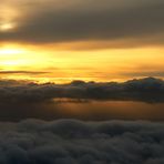
M 14 85 L 12 84 L 14 82 Z M 164 81 L 154 78 L 123 83 L 73 81 L 70 84 L 0 82 L 1 102 L 47 102 L 58 98 L 164 102 Z

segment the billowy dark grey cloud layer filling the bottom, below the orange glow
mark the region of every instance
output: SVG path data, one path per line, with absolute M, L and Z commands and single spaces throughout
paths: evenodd
M 3 124 L 1 164 L 162 164 L 164 124 L 28 120 Z

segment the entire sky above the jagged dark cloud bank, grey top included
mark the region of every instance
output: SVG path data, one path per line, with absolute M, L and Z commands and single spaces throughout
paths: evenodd
M 0 78 L 164 78 L 163 0 L 1 0 Z

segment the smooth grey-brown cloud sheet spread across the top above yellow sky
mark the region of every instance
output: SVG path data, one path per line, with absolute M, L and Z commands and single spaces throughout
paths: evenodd
M 163 0 L 49 0 L 19 8 L 25 12 L 18 29 L 0 32 L 1 41 L 164 43 Z

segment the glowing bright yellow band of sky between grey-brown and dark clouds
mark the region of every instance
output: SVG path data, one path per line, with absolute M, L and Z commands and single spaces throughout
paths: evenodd
M 40 82 L 163 78 L 163 53 L 164 49 L 161 47 L 73 51 L 64 48 L 59 50 L 55 45 L 30 47 L 6 43 L 0 47 L 0 76 Z

